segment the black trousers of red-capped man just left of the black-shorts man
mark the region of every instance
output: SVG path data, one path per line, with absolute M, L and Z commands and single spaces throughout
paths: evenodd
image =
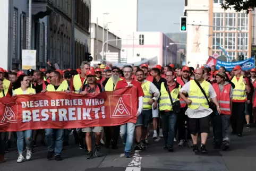
M 191 139 L 189 129 L 185 128 L 185 121 L 189 122 L 189 117 L 185 115 L 187 107 L 181 108 L 181 112 L 177 115 L 177 130 L 178 130 L 178 140 Z M 187 124 L 188 125 L 188 124 Z

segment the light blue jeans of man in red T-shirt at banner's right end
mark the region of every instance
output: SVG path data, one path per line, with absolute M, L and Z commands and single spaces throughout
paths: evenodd
M 135 130 L 134 123 L 129 122 L 129 123 L 120 125 L 120 136 L 121 136 L 121 139 L 123 140 L 123 143 L 125 144 L 125 148 L 124 148 L 125 152 L 131 152 L 134 130 Z

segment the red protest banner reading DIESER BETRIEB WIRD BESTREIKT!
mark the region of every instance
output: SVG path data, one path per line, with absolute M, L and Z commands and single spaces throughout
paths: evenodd
M 136 123 L 136 89 L 101 92 L 93 97 L 46 92 L 0 98 L 0 132 L 72 129 Z

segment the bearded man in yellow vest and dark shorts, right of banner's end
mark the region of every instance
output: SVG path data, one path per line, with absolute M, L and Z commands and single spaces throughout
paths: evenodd
M 158 100 L 160 96 L 160 92 L 157 87 L 150 81 L 144 79 L 144 72 L 139 69 L 135 73 L 137 81 L 141 84 L 144 97 L 143 97 L 143 109 L 141 115 L 137 118 L 136 122 L 136 146 L 135 150 L 142 150 L 146 148 L 146 135 L 147 135 L 147 127 L 150 122 L 151 114 L 152 114 L 152 105 L 153 108 L 157 108 L 157 104 L 154 102 Z M 153 96 L 153 98 L 152 98 Z

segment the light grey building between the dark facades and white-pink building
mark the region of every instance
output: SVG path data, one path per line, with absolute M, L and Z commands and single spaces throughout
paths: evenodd
M 109 41 L 108 44 L 104 46 L 104 52 L 110 53 L 118 53 L 118 58 L 120 58 L 121 53 L 121 39 L 117 37 L 112 32 L 109 32 L 107 29 L 104 29 L 104 40 L 116 40 L 116 41 Z M 108 38 L 107 38 L 108 37 Z M 103 47 L 103 28 L 96 23 L 91 23 L 91 48 L 90 52 L 93 57 L 93 61 L 100 61 L 103 58 L 102 53 Z M 107 48 L 108 47 L 108 48 Z

